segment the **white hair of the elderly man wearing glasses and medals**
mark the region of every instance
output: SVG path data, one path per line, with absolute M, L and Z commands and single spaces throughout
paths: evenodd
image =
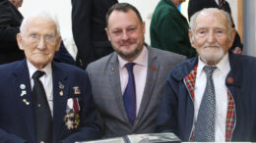
M 56 24 L 57 34 L 60 35 L 60 26 L 59 26 L 57 16 L 48 11 L 47 12 L 46 11 L 38 11 L 38 12 L 33 13 L 32 15 L 29 15 L 28 17 L 25 17 L 25 19 L 23 20 L 21 27 L 20 27 L 21 33 L 24 33 L 24 30 L 25 30 L 26 25 L 28 24 L 28 21 L 31 20 L 32 18 L 36 18 L 36 17 L 43 17 L 43 18 L 47 18 L 47 19 L 51 20 L 54 24 Z

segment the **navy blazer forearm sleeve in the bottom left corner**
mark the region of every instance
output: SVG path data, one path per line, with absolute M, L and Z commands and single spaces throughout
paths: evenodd
M 0 128 L 0 142 L 6 143 L 6 142 L 14 142 L 14 143 L 25 143 L 26 140 L 23 138 L 14 135 L 14 134 L 9 134 L 5 130 Z

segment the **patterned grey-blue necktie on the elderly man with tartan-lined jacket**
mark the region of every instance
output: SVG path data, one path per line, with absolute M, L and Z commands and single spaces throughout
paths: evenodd
M 215 141 L 216 97 L 212 76 L 216 69 L 216 67 L 211 66 L 204 67 L 204 71 L 207 75 L 207 82 L 195 125 L 194 141 Z

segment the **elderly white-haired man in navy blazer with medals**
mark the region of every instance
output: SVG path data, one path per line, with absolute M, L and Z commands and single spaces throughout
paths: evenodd
M 40 12 L 26 18 L 17 41 L 27 59 L 0 66 L 0 142 L 38 142 L 32 102 L 35 71 L 45 72 L 39 80 L 52 117 L 52 137 L 48 142 L 99 138 L 101 130 L 87 71 L 52 62 L 61 42 L 54 17 Z

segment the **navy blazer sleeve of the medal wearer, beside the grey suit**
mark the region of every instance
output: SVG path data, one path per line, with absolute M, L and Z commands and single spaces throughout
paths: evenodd
M 83 95 L 82 101 L 82 113 L 81 113 L 81 127 L 79 131 L 71 134 L 63 143 L 70 143 L 75 141 L 85 141 L 99 139 L 102 136 L 102 131 L 96 119 L 96 104 L 93 100 L 92 86 L 87 71 L 84 77 L 85 81 L 85 95 Z

